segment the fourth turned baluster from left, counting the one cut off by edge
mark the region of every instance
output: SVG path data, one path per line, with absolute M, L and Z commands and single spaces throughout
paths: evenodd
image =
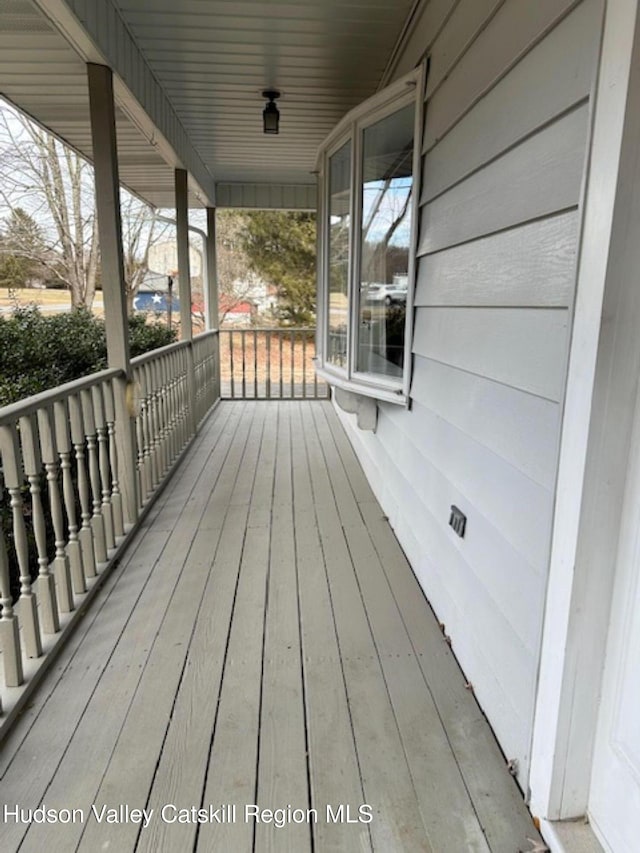
M 71 592 L 71 574 L 69 558 L 65 551 L 64 515 L 58 473 L 58 450 L 51 409 L 38 409 L 38 431 L 40 433 L 40 449 L 42 461 L 47 472 L 47 489 L 49 493 L 49 510 L 55 536 L 55 557 L 53 559 L 53 575 L 56 581 L 56 598 L 61 613 L 69 613 L 74 609 Z

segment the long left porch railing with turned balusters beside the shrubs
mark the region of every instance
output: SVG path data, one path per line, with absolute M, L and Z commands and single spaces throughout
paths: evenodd
M 219 398 L 218 334 L 132 368 L 129 385 L 104 370 L 0 409 L 5 718 Z

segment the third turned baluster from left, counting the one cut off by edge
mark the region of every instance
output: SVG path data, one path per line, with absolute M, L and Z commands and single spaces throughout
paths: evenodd
M 58 618 L 55 579 L 49 571 L 47 523 L 42 506 L 40 483 L 42 459 L 40 458 L 38 427 L 34 415 L 25 415 L 20 418 L 20 444 L 22 445 L 24 472 L 29 481 L 31 523 L 38 554 L 38 578 L 34 583 L 34 588 L 40 605 L 40 624 L 45 634 L 55 634 L 60 630 L 60 620 Z

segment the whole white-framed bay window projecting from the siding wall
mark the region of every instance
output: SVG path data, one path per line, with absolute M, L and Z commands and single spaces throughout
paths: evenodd
M 421 79 L 361 104 L 319 155 L 318 371 L 398 403 L 409 387 Z

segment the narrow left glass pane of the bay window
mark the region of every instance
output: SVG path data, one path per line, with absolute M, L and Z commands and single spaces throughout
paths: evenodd
M 351 142 L 329 159 L 329 323 L 327 361 L 347 363 Z

